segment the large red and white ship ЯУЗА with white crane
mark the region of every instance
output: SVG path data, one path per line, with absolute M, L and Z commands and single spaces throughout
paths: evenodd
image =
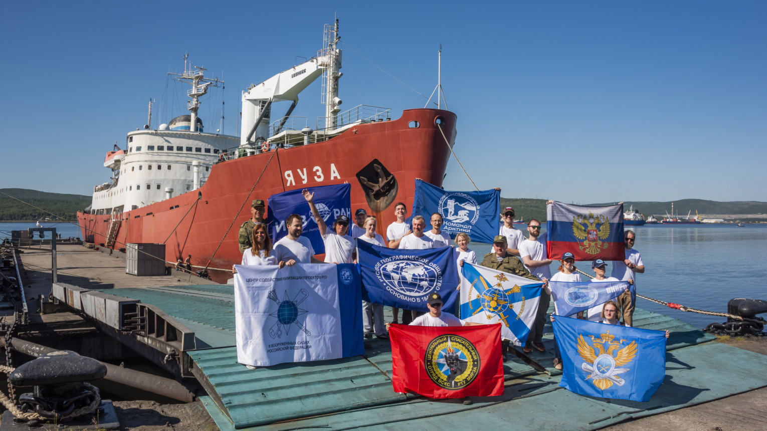
M 86 242 L 115 250 L 129 243 L 165 245 L 166 264 L 224 282 L 242 260 L 239 227 L 254 199 L 309 186 L 351 184 L 351 206 L 378 219 L 385 235 L 395 202 L 413 202 L 415 178 L 441 186 L 456 138 L 456 114 L 437 108 L 391 110 L 359 105 L 341 112 L 339 26 L 324 26 L 316 57 L 242 91 L 240 137 L 204 130 L 200 97 L 223 81 L 184 58 L 189 115 L 127 133 L 104 158 L 107 183 L 77 213 Z M 325 116 L 316 127 L 291 117 L 298 94 L 321 77 Z M 439 86 L 439 84 L 438 84 Z M 440 88 L 441 90 L 441 88 Z M 275 104 L 291 102 L 272 122 Z M 438 100 L 439 102 L 439 100 Z M 268 202 L 267 202 L 268 207 Z M 271 222 L 271 221 L 270 221 Z M 160 257 L 162 258 L 162 257 Z

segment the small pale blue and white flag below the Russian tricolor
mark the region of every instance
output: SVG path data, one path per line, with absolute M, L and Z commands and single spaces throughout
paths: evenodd
M 629 285 L 628 281 L 549 281 L 548 288 L 560 316 L 570 316 L 604 304 L 627 288 L 634 294 L 634 285 Z

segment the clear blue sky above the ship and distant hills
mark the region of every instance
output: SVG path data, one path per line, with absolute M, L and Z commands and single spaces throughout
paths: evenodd
M 335 15 L 344 108 L 423 107 L 443 45 L 456 154 L 480 189 L 767 201 L 765 2 L 221 4 L 4 5 L 0 188 L 90 195 L 150 97 L 163 122 L 187 113 L 186 87 L 166 78 L 187 51 L 226 82 L 203 100 L 206 130 L 220 127 L 224 100 L 224 131 L 239 135 L 241 90 L 315 55 Z M 319 101 L 318 80 L 294 115 L 321 115 Z M 455 160 L 447 172 L 446 189 L 471 188 Z

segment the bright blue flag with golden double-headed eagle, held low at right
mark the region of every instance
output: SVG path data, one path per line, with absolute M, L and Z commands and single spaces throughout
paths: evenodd
M 649 401 L 666 377 L 663 331 L 555 316 L 554 337 L 571 392 Z

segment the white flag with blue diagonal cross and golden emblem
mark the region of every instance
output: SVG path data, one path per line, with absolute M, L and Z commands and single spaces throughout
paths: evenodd
M 535 324 L 542 282 L 464 263 L 460 318 L 464 322 L 501 324 L 501 337 L 521 346 Z

